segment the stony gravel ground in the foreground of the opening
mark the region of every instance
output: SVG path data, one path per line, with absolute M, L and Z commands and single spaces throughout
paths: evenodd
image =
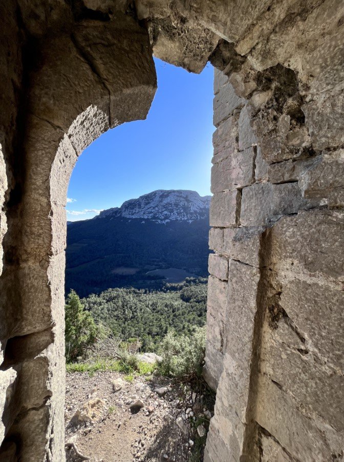
M 202 460 L 212 396 L 115 372 L 67 374 L 66 382 L 68 462 Z

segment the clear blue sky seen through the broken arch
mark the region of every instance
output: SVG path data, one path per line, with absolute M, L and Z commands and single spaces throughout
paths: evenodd
M 67 220 L 84 220 L 155 189 L 210 194 L 213 68 L 200 75 L 155 60 L 158 90 L 147 119 L 103 133 L 79 157 Z

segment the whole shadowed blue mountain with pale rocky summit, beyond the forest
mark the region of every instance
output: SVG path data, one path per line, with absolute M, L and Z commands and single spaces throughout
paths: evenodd
M 207 276 L 210 196 L 157 190 L 67 227 L 66 292 Z

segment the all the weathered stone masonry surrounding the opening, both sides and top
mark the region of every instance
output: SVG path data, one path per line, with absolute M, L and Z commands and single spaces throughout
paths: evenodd
M 154 52 L 216 67 L 205 460 L 344 457 L 344 4 L 0 5 L 0 459 L 64 459 L 66 192 L 144 119 Z

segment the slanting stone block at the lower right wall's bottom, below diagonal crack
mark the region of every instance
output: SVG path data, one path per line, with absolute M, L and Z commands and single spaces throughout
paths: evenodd
M 259 376 L 256 421 L 296 460 L 331 461 L 331 450 L 314 422 L 269 378 Z

